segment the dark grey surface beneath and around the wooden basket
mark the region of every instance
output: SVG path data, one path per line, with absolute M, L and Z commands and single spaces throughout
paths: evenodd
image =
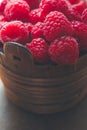
M 0 81 L 0 130 L 87 130 L 87 98 L 67 112 L 37 115 L 12 104 Z

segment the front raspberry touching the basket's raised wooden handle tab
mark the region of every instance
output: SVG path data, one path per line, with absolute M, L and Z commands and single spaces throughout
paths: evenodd
M 33 39 L 26 47 L 31 52 L 36 63 L 47 63 L 48 45 L 42 38 Z

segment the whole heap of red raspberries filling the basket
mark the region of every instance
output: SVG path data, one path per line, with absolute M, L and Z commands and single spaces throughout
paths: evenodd
M 37 64 L 74 64 L 87 51 L 86 0 L 1 0 L 0 46 L 16 42 Z

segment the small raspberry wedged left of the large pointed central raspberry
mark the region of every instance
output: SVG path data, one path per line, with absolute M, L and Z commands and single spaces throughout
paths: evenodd
M 43 23 L 38 22 L 35 24 L 31 30 L 32 38 L 39 38 L 43 35 Z

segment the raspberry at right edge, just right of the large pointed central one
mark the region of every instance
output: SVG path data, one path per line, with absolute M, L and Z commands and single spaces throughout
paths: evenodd
M 87 25 L 83 22 L 73 21 L 73 36 L 78 40 L 80 50 L 87 50 Z

